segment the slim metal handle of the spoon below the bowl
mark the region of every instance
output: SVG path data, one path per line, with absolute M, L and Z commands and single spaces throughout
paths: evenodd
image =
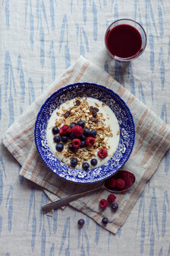
M 68 203 L 70 203 L 70 202 L 76 200 L 77 198 L 86 196 L 87 194 L 90 194 L 90 193 L 92 193 L 93 191 L 98 190 L 99 188 L 101 188 L 101 186 L 96 187 L 96 188 L 93 188 L 92 190 L 87 190 L 87 191 L 81 192 L 81 193 L 79 193 L 79 194 L 74 194 L 74 195 L 72 195 L 72 196 L 62 198 L 62 199 L 60 199 L 60 200 L 56 200 L 55 202 L 52 202 L 52 203 L 47 203 L 46 205 L 44 205 L 44 206 L 41 207 L 42 212 L 43 212 L 43 213 L 48 213 L 50 210 L 58 209 L 58 208 L 60 208 L 61 206 L 65 206 L 66 204 L 68 204 Z

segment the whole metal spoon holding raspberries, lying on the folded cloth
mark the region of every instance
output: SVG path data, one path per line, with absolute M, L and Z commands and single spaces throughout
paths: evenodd
M 118 188 L 116 187 L 116 183 L 118 183 L 118 180 L 124 181 L 124 187 Z M 52 203 L 47 203 L 46 205 L 42 206 L 42 212 L 48 213 L 50 210 L 58 209 L 61 206 L 65 206 L 66 204 L 77 200 L 80 197 L 86 196 L 87 194 L 91 194 L 96 190 L 99 190 L 101 188 L 108 190 L 111 193 L 124 193 L 127 190 L 130 190 L 131 187 L 134 186 L 134 183 L 136 181 L 136 178 L 131 171 L 118 171 L 117 174 L 113 175 L 111 178 L 105 180 L 102 185 L 99 185 L 99 187 L 95 187 L 92 190 L 87 190 L 78 194 L 74 194 L 65 198 L 62 198 L 60 200 L 56 200 Z M 118 185 L 117 185 L 118 186 Z

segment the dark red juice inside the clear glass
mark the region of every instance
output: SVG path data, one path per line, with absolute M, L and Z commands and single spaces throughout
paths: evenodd
M 135 27 L 121 24 L 109 30 L 106 44 L 113 56 L 131 58 L 141 50 L 142 37 Z

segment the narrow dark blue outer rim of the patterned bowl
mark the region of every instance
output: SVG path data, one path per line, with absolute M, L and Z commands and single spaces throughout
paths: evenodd
M 39 112 L 38 112 L 38 114 L 36 115 L 36 122 L 35 122 L 35 126 L 34 126 L 34 141 L 35 141 L 35 144 L 36 144 L 36 150 L 37 150 L 37 152 L 39 153 L 40 158 L 42 159 L 42 156 L 41 156 L 41 154 L 40 154 L 40 152 L 39 152 L 39 147 L 38 147 L 37 141 L 36 141 L 36 126 L 37 126 L 37 123 L 38 123 L 38 121 L 39 121 L 39 115 L 41 114 L 41 111 L 42 111 L 43 107 L 44 107 L 44 106 L 47 104 L 47 102 L 54 96 L 54 94 L 56 94 L 56 93 L 58 93 L 58 92 L 60 92 L 60 91 L 62 91 L 62 90 L 64 90 L 64 89 L 66 89 L 66 88 L 71 88 L 71 86 L 73 86 L 73 85 L 84 85 L 84 84 L 87 84 L 87 85 L 96 85 L 96 86 L 98 86 L 99 88 L 105 88 L 105 89 L 107 89 L 107 90 L 110 91 L 111 93 L 115 94 L 115 95 L 119 98 L 119 100 L 120 100 L 121 102 L 123 102 L 124 106 L 128 109 L 128 113 L 129 113 L 130 116 L 131 116 L 131 123 L 132 123 L 133 130 L 134 130 L 134 136 L 133 136 L 133 138 L 132 138 L 131 150 L 129 151 L 128 157 L 127 157 L 126 160 L 124 161 L 124 165 L 125 165 L 125 163 L 128 161 L 128 158 L 129 158 L 130 155 L 131 155 L 132 150 L 134 149 L 134 142 L 135 142 L 135 136 L 136 136 L 136 133 L 135 133 L 135 124 L 134 124 L 134 117 L 133 117 L 133 115 L 131 114 L 131 110 L 130 110 L 130 108 L 128 107 L 128 105 L 125 103 L 125 101 L 124 101 L 117 93 L 115 93 L 115 91 L 113 91 L 112 89 L 106 87 L 105 85 L 99 85 L 99 84 L 96 84 L 96 83 L 94 83 L 94 82 L 76 82 L 76 83 L 72 83 L 72 84 L 69 84 L 69 85 L 65 85 L 65 86 L 63 86 L 62 88 L 59 88 L 58 90 L 56 90 L 55 92 L 53 92 L 51 95 L 49 95 L 49 97 L 46 98 L 46 101 L 44 101 L 44 103 L 41 105 L 41 107 L 39 108 Z M 91 97 L 91 98 L 94 98 L 94 97 Z M 50 152 L 51 152 L 51 151 L 50 151 Z M 52 152 L 51 152 L 51 153 L 52 153 Z M 53 155 L 53 154 L 52 154 L 52 155 Z M 46 162 L 44 161 L 44 159 L 42 159 L 42 161 L 45 163 L 46 167 L 49 168 L 49 166 L 46 164 Z M 59 160 L 58 160 L 58 161 L 59 161 Z M 66 165 L 66 164 L 65 164 L 65 165 Z M 103 165 L 104 165 L 104 164 L 103 164 Z M 121 168 L 122 168 L 124 165 L 122 165 Z M 67 166 L 68 166 L 68 165 L 67 165 Z M 102 165 L 99 165 L 98 168 L 100 168 L 100 167 L 102 167 Z M 57 173 L 55 173 L 54 171 L 52 171 L 51 168 L 49 168 L 49 170 L 52 171 L 53 174 L 57 175 L 59 178 L 65 180 L 65 181 L 68 181 L 68 182 L 72 182 L 72 183 L 74 183 L 74 184 L 94 184 L 94 183 L 101 182 L 101 181 L 104 182 L 106 179 L 108 179 L 108 178 L 112 177 L 112 175 L 116 174 L 121 168 L 118 168 L 118 170 L 115 171 L 115 173 L 110 174 L 110 175 L 109 175 L 108 177 L 106 177 L 106 178 L 101 178 L 101 179 L 99 179 L 99 180 L 97 180 L 97 181 L 86 181 L 86 182 L 72 181 L 72 180 L 69 180 L 69 179 L 65 179 L 65 178 L 61 177 L 59 174 L 57 174 Z M 78 169 L 78 168 L 75 168 L 75 169 L 81 171 L 81 169 Z M 90 168 L 90 169 L 95 169 L 95 168 Z

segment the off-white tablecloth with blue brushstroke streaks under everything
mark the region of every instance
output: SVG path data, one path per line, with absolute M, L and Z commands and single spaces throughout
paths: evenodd
M 79 55 L 169 124 L 169 8 L 168 0 L 2 0 L 1 135 Z M 134 19 L 146 30 L 146 50 L 132 62 L 112 60 L 105 50 L 105 30 L 119 18 Z M 20 166 L 1 145 L 0 255 L 170 255 L 169 156 L 112 235 L 71 207 L 42 215 L 46 195 L 20 178 Z M 77 229 L 80 218 L 83 229 Z

